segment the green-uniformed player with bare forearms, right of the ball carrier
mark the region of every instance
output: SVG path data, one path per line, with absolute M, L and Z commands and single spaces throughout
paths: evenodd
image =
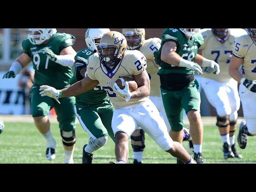
M 214 68 L 220 72 L 218 64 L 197 54 L 204 43 L 200 29 L 168 28 L 162 32 L 161 48 L 154 52 L 164 108 L 171 124 L 170 135 L 174 141 L 182 143 L 183 109 L 190 122 L 190 134 L 194 145 L 194 160 L 204 163 L 202 158 L 203 124 L 200 116 L 200 93 L 195 71 L 202 74 L 200 66 Z M 200 66 L 199 66 L 199 65 Z

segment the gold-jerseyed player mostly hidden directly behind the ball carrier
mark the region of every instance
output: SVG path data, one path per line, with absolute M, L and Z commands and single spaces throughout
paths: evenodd
M 160 116 L 164 118 L 164 122 L 170 130 L 170 123 L 164 110 L 164 104 L 160 93 L 160 77 L 157 72 L 160 69 L 154 62 L 154 52 L 159 50 L 161 46 L 160 38 L 150 38 L 145 40 L 144 28 L 123 28 L 122 34 L 127 40 L 128 50 L 139 50 L 144 54 L 147 60 L 147 72 L 150 79 L 150 100 L 155 104 L 160 112 Z M 184 139 L 190 137 L 188 128 L 184 128 Z M 145 136 L 141 127 L 131 135 L 132 148 L 134 154 L 134 163 L 142 163 L 143 151 L 145 148 Z

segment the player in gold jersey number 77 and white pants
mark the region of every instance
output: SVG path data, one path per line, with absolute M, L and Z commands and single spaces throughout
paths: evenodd
M 204 44 L 198 53 L 220 65 L 220 74 L 212 74 L 212 68 L 204 68 L 202 88 L 209 103 L 216 109 L 217 123 L 223 142 L 224 158 L 242 158 L 235 148 L 235 130 L 240 98 L 237 82 L 228 74 L 232 44 L 235 38 L 246 34 L 243 29 L 203 29 Z

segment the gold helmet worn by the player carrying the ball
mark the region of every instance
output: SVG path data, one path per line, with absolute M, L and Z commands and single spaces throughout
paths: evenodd
M 100 63 L 108 67 L 115 66 L 118 59 L 124 56 L 126 47 L 127 42 L 123 34 L 117 31 L 107 32 L 100 39 L 98 46 Z

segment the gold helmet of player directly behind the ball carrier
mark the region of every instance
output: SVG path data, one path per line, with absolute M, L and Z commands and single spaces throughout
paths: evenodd
M 130 29 L 130 28 L 122 28 L 122 34 L 125 37 L 130 37 L 133 36 L 134 39 L 132 40 L 127 40 L 127 49 L 128 50 L 134 50 L 144 43 L 145 40 L 145 29 L 144 28 L 135 28 L 135 29 Z

